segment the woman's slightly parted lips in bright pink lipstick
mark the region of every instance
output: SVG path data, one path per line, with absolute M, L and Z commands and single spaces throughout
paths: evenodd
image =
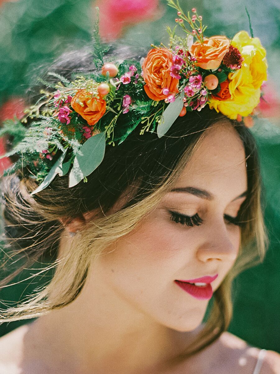
M 209 300 L 213 295 L 211 282 L 215 281 L 218 274 L 215 276 L 205 276 L 196 279 L 175 280 L 174 282 L 181 287 L 188 294 L 192 295 L 198 300 Z

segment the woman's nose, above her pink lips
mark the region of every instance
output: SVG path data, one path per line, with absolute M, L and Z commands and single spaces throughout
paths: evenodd
M 239 235 L 233 236 L 224 226 L 205 233 L 205 240 L 197 248 L 198 260 L 207 262 L 211 260 L 230 261 L 236 260 L 239 249 Z

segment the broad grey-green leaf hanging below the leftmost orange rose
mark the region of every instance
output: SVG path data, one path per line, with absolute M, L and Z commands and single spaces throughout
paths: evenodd
M 105 132 L 89 138 L 80 148 L 69 174 L 69 187 L 74 187 L 100 165 L 105 154 Z

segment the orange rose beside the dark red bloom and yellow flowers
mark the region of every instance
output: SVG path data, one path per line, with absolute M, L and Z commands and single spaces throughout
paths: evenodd
M 205 38 L 203 43 L 195 42 L 190 47 L 190 53 L 195 56 L 196 66 L 202 69 L 217 69 L 227 53 L 230 41 L 225 36 L 211 36 Z

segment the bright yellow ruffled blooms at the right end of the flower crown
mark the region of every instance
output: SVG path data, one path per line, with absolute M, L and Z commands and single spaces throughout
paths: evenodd
M 209 107 L 236 119 L 237 114 L 248 116 L 258 105 L 260 87 L 267 79 L 267 61 L 265 49 L 259 39 L 251 38 L 246 31 L 237 33 L 231 45 L 239 49 L 244 61 L 239 70 L 228 74 L 231 97 L 225 101 L 211 98 Z

